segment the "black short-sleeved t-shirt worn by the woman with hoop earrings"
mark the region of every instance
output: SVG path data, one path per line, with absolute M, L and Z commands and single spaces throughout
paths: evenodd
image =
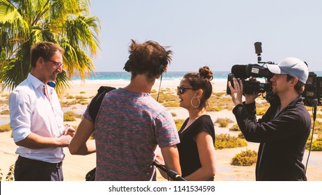
M 184 121 L 184 124 L 179 130 L 180 143 L 177 144 L 183 177 L 190 175 L 201 167 L 197 143 L 195 142 L 196 135 L 200 132 L 207 132 L 211 135 L 215 144 L 214 123 L 210 116 L 200 116 L 186 130 L 184 130 L 188 120 L 189 118 Z M 182 130 L 184 130 L 184 132 L 182 132 Z M 214 178 L 209 179 L 214 180 Z

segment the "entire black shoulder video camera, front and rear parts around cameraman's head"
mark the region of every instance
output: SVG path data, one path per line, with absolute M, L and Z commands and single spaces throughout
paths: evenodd
M 261 42 L 255 42 L 255 52 L 257 54 L 257 63 L 259 64 L 248 64 L 248 65 L 233 65 L 232 72 L 228 74 L 227 78 L 227 94 L 231 94 L 230 88 L 228 87 L 228 81 L 234 86 L 232 79 L 241 79 L 243 81 L 243 93 L 244 94 L 259 94 L 266 93 L 266 100 L 271 102 L 274 97 L 272 92 L 271 77 L 273 73 L 264 68 L 264 65 L 275 64 L 271 61 L 261 62 Z M 261 83 L 255 78 L 264 77 L 265 82 Z M 249 79 L 248 79 L 249 78 Z M 246 80 L 248 79 L 248 80 Z M 305 90 L 301 94 L 303 102 L 307 107 L 321 106 L 322 100 L 322 77 L 317 77 L 314 72 L 309 72 L 309 77 L 305 83 Z

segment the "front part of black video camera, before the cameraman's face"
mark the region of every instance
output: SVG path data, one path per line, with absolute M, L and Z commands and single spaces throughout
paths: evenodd
M 275 64 L 271 61 L 261 62 L 261 42 L 255 42 L 255 53 L 257 54 L 257 63 Z M 231 94 L 230 88 L 228 87 L 228 81 L 234 86 L 232 79 L 235 77 L 237 80 L 241 79 L 243 81 L 243 93 L 246 94 L 258 94 L 266 92 L 266 100 L 268 96 L 272 93 L 271 77 L 273 74 L 264 68 L 264 65 L 259 64 L 248 64 L 248 65 L 233 65 L 232 72 L 228 74 L 227 77 L 227 94 Z M 264 77 L 265 82 L 261 83 L 257 81 L 256 77 Z M 250 79 L 248 79 L 250 78 Z M 246 80 L 248 79 L 248 80 Z

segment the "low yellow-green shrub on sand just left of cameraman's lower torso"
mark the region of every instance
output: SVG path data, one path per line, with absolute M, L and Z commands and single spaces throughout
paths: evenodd
M 257 152 L 255 150 L 245 150 L 236 154 L 232 158 L 232 165 L 234 166 L 252 166 L 257 162 Z

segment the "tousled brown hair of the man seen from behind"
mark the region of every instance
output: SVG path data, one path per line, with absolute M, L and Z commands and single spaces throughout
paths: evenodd
M 138 74 L 147 73 L 148 79 L 154 79 L 166 71 L 172 59 L 172 51 L 166 50 L 158 42 L 148 40 L 143 44 L 131 40 L 129 47 L 129 60 L 124 65 L 124 70 L 131 72 L 131 79 Z

